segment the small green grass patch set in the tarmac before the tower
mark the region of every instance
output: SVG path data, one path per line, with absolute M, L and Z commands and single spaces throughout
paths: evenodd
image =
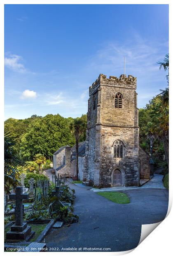
M 122 192 L 111 191 L 111 192 L 96 192 L 96 193 L 117 204 L 130 203 L 130 198 L 125 193 L 122 193 Z

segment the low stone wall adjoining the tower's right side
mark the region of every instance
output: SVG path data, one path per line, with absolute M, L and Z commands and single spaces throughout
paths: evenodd
M 150 155 L 139 147 L 140 174 L 144 179 L 150 179 Z

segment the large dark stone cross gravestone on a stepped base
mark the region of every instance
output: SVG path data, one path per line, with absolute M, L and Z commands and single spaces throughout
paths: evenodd
M 28 194 L 23 194 L 23 187 L 16 187 L 16 194 L 9 194 L 9 199 L 16 200 L 15 224 L 11 226 L 11 231 L 6 234 L 7 239 L 23 240 L 31 232 L 31 227 L 23 223 L 23 199 L 28 199 Z M 34 232 L 32 232 L 34 234 Z

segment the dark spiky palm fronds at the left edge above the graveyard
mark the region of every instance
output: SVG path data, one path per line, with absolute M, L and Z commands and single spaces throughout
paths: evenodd
M 5 129 L 4 131 L 4 189 L 5 193 L 9 194 L 12 188 L 20 185 L 19 157 L 15 154 L 16 141 L 12 134 Z

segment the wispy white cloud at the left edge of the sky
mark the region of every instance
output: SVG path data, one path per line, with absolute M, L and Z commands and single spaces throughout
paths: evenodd
M 21 63 L 22 57 L 19 55 L 9 55 L 5 57 L 4 64 L 7 68 L 12 69 L 13 71 L 19 72 L 19 73 L 25 73 L 26 68 Z

